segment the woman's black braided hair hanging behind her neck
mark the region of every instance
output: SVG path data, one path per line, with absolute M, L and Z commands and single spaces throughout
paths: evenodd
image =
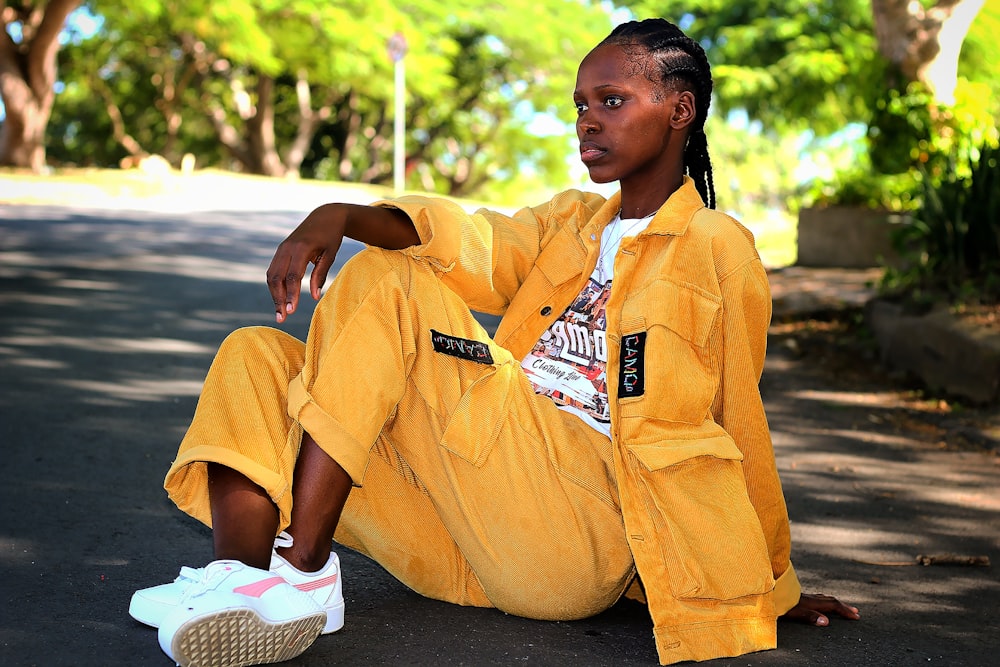
M 698 42 L 665 19 L 630 21 L 611 31 L 601 44 L 637 45 L 645 49 L 659 69 L 660 81 L 681 82 L 695 97 L 695 120 L 684 147 L 684 171 L 690 176 L 709 208 L 715 208 L 715 181 L 708 155 L 705 119 L 712 103 L 712 69 Z

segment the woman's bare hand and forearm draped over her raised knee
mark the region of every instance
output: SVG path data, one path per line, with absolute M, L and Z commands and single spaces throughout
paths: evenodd
M 309 293 L 319 299 L 326 276 L 347 236 L 379 248 L 399 249 L 420 242 L 410 218 L 398 209 L 324 204 L 282 241 L 267 267 L 267 289 L 279 323 L 299 305 L 302 279 L 313 265 Z

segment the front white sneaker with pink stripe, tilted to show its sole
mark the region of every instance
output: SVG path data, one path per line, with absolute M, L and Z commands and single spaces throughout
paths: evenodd
M 272 572 L 217 560 L 188 585 L 160 625 L 160 648 L 182 667 L 244 667 L 299 655 L 326 612 Z

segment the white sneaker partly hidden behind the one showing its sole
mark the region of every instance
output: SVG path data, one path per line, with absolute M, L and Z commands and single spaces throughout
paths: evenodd
M 274 540 L 275 547 L 291 545 L 292 537 L 285 532 Z M 160 627 L 166 615 L 180 604 L 185 591 L 201 579 L 204 569 L 182 567 L 180 575 L 173 582 L 136 591 L 129 603 L 129 615 L 140 623 Z M 344 627 L 344 593 L 337 554 L 331 553 L 326 565 L 318 572 L 302 572 L 292 567 L 277 551 L 272 551 L 269 569 L 300 591 L 308 593 L 326 610 L 323 634 L 336 632 Z

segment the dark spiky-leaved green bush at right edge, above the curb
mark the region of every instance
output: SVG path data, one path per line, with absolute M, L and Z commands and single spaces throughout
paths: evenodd
M 923 166 L 922 204 L 895 232 L 903 268 L 882 290 L 916 303 L 1000 302 L 1000 150 L 956 151 L 932 176 Z

